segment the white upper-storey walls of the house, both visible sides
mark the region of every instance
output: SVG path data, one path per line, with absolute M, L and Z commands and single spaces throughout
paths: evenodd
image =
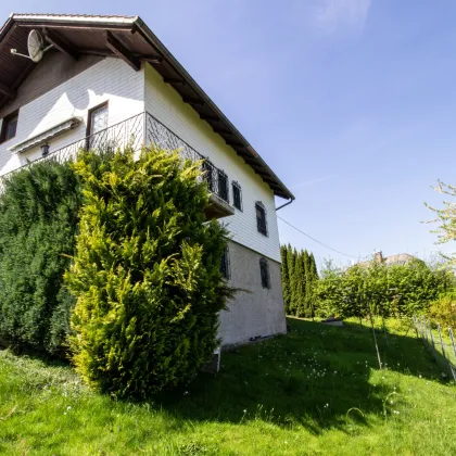
M 42 65 L 46 64 L 42 62 Z M 36 84 L 39 84 L 39 80 Z M 189 104 L 183 103 L 180 96 L 166 85 L 149 64 L 145 64 L 142 71 L 135 72 L 122 60 L 106 58 L 22 105 L 16 136 L 0 144 L 0 175 L 41 155 L 40 148 L 13 153 L 8 150 L 10 147 L 46 131 L 68 117 L 81 117 L 83 123 L 77 128 L 50 140 L 51 153 L 83 139 L 86 136 L 88 111 L 104 101 L 109 101 L 109 126 L 145 110 L 202 155 L 208 156 L 215 166 L 228 175 L 231 204 L 231 181 L 237 180 L 242 188 L 243 211 L 236 210 L 233 216 L 224 219 L 232 239 L 280 262 L 273 191 L 207 123 L 201 121 Z M 266 207 L 268 237 L 261 235 L 256 229 L 256 201 L 263 202 Z

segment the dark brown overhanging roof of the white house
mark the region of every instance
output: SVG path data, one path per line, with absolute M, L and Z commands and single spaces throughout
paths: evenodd
M 15 97 L 36 65 L 11 54 L 12 48 L 27 54 L 27 36 L 34 28 L 49 43 L 76 59 L 83 54 L 117 56 L 135 69 L 141 61 L 149 62 L 277 197 L 294 200 L 248 140 L 138 16 L 11 14 L 0 29 L 0 110 Z

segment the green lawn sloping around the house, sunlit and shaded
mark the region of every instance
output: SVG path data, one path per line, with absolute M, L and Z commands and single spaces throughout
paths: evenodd
M 72 369 L 0 352 L 5 455 L 453 455 L 456 388 L 413 331 L 289 320 L 223 354 L 217 376 L 145 404 L 90 392 Z M 397 333 L 402 332 L 402 334 Z M 410 337 L 411 335 L 411 337 Z

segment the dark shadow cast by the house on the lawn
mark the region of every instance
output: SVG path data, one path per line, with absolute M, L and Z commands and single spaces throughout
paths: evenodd
M 261 419 L 287 428 L 301 425 L 315 434 L 344 429 L 347 421 L 367 426 L 363 415 L 383 413 L 393 389 L 369 382 L 379 368 L 369 328 L 289 324 L 292 331 L 286 335 L 223 353 L 218 375 L 201 373 L 187 389 L 155 398 L 155 405 L 181 418 L 182 426 L 186 420 Z M 439 379 L 420 340 L 380 333 L 378 342 L 388 369 Z

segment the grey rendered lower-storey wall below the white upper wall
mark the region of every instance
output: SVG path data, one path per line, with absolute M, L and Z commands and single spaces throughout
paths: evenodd
M 270 289 L 262 287 L 259 258 L 262 255 L 230 241 L 229 261 L 231 287 L 243 289 L 229 303 L 229 311 L 220 314 L 219 335 L 223 345 L 248 342 L 256 335 L 269 335 L 287 331 L 280 264 L 267 258 Z

